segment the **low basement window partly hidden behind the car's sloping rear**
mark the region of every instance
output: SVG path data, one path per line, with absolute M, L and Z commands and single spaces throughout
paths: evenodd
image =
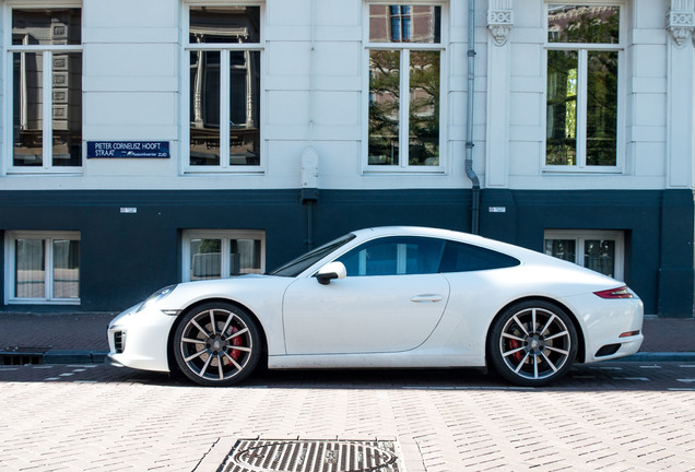
M 624 252 L 622 232 L 545 232 L 546 255 L 577 263 L 616 280 L 624 278 Z

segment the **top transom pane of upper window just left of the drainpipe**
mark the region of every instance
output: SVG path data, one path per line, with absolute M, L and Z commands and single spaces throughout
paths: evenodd
M 369 42 L 441 43 L 441 7 L 369 5 Z

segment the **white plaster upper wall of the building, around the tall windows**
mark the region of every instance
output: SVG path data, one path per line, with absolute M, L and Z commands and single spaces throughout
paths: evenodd
M 488 44 L 487 0 L 476 0 L 476 58 L 473 150 L 483 182 L 515 189 L 664 188 L 669 169 L 683 168 L 692 155 L 670 151 L 667 162 L 669 37 L 668 2 L 628 0 L 625 42 L 624 166 L 619 175 L 543 173 L 545 108 L 545 17 L 543 0 L 514 2 L 515 24 L 505 50 Z M 3 4 L 0 0 L 0 4 Z M 297 188 L 301 156 L 308 145 L 319 154 L 319 186 L 326 189 L 470 188 L 466 151 L 467 0 L 449 0 L 443 36 L 447 38 L 443 174 L 366 173 L 367 15 L 361 0 L 266 0 L 262 31 L 262 137 L 260 173 L 186 175 L 188 92 L 182 52 L 187 25 L 179 0 L 83 1 L 85 141 L 169 141 L 169 160 L 85 160 L 82 175 L 0 177 L 3 189 L 234 189 Z M 3 4 L 4 7 L 4 4 Z M 137 14 L 133 14 L 137 12 Z M 7 16 L 8 9 L 0 9 Z M 0 33 L 9 20 L 0 16 Z M 311 16 L 315 21 L 311 24 Z M 3 42 L 9 35 L 2 36 Z M 311 54 L 311 38 L 315 50 Z M 0 45 L 0 46 L 4 46 Z M 692 45 L 688 45 L 692 49 Z M 490 54 L 495 62 L 491 62 Z M 4 97 L 7 54 L 0 61 L 3 119 L 11 116 Z M 669 66 L 671 63 L 671 67 Z M 669 69 L 669 67 L 671 69 Z M 491 69 L 492 68 L 492 69 Z M 314 74 L 310 75 L 313 70 Z M 505 70 L 505 78 L 487 76 Z M 682 73 L 690 74 L 692 69 Z M 682 86 L 682 83 L 681 85 Z M 314 93 L 310 93 L 313 88 Z M 504 93 L 504 110 L 488 110 Z M 491 95 L 492 94 L 492 95 Z M 692 91 L 691 91 L 692 95 Z M 494 113 L 492 113 L 494 111 Z M 495 117 L 491 120 L 491 116 Z M 504 116 L 504 119 L 497 117 Z M 690 117 L 692 120 L 692 116 Z M 313 126 L 309 123 L 313 122 Z M 11 126 L 11 123 L 9 125 Z M 7 132 L 0 134 L 4 139 Z M 487 145 L 486 140 L 504 140 Z M 2 142 L 3 170 L 11 143 Z M 499 144 L 499 145 L 497 145 Z M 691 143 L 688 143 L 688 150 Z M 679 161 L 681 160 L 681 161 Z M 185 163 L 184 163 L 185 164 Z M 692 167 L 692 166 L 691 166 Z M 688 169 L 691 167 L 687 167 Z M 672 170 L 673 173 L 674 170 Z M 692 185 L 692 184 L 691 184 Z

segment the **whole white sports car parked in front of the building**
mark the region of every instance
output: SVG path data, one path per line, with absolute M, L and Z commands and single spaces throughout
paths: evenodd
M 491 367 L 522 386 L 639 350 L 613 279 L 444 229 L 380 227 L 266 275 L 172 285 L 108 327 L 111 364 L 231 386 L 270 369 Z

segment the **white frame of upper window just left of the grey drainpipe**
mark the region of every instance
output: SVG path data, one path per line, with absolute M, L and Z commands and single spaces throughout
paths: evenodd
M 426 43 L 370 43 L 369 42 L 369 7 L 372 5 L 432 5 L 441 8 L 441 22 L 439 31 L 439 44 L 426 44 Z M 363 74 L 362 90 L 365 92 L 362 94 L 362 119 L 364 126 L 362 130 L 362 172 L 363 174 L 446 174 L 448 162 L 448 140 L 447 129 L 448 121 L 446 121 L 449 88 L 448 88 L 448 31 L 449 31 L 449 8 L 448 2 L 443 1 L 367 1 L 364 3 L 363 10 L 363 43 L 364 43 L 364 58 L 362 68 L 365 71 Z M 412 27 L 412 25 L 411 25 Z M 372 50 L 399 50 L 401 51 L 401 70 L 400 70 L 400 90 L 409 90 L 410 74 L 410 55 L 411 50 L 436 50 L 439 51 L 439 165 L 426 166 L 426 165 L 410 165 L 408 160 L 409 144 L 409 111 L 410 99 L 402 98 L 399 107 L 399 123 L 405 123 L 405 126 L 399 126 L 399 164 L 398 165 L 369 165 L 369 51 Z M 405 73 L 403 73 L 405 72 Z M 405 143 L 405 145 L 403 145 Z

